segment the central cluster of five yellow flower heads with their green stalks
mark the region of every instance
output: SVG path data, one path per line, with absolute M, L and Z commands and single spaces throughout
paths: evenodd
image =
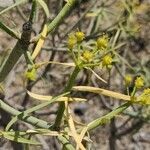
M 96 41 L 84 41 L 85 34 L 81 31 L 71 33 L 68 36 L 68 49 L 71 52 L 74 62 L 81 66 L 102 66 L 108 69 L 113 63 L 113 55 L 109 52 L 109 38 L 107 35 L 99 37 Z

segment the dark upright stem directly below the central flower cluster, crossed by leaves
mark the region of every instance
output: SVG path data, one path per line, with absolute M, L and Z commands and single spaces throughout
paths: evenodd
M 71 77 L 70 77 L 70 79 L 69 79 L 69 81 L 68 81 L 68 83 L 67 83 L 67 86 L 64 89 L 64 93 L 69 92 L 72 89 L 72 87 L 74 85 L 74 81 L 75 81 L 79 71 L 80 71 L 79 67 L 76 66 L 73 73 L 72 73 L 72 75 L 71 75 Z M 65 103 L 60 102 L 53 129 L 59 130 L 59 126 L 61 124 L 61 120 L 62 120 L 62 117 L 63 117 L 63 114 L 64 114 L 64 110 L 65 110 Z

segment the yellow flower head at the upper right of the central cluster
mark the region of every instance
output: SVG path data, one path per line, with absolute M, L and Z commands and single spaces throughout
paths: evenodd
M 97 48 L 104 50 L 108 46 L 108 37 L 106 35 L 97 39 Z

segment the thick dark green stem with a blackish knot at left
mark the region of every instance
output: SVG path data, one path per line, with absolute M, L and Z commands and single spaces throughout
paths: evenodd
M 33 3 L 33 5 L 35 4 Z M 35 6 L 32 6 L 32 9 L 34 9 L 34 7 Z M 0 67 L 0 82 L 2 82 L 7 77 L 7 75 L 13 69 L 21 55 L 28 51 L 28 47 L 30 45 L 29 41 L 32 32 L 32 13 L 33 10 L 31 10 L 29 21 L 24 23 L 24 25 L 22 26 L 23 32 L 21 34 L 21 39 L 18 40 L 11 53 L 8 55 L 8 57 L 5 59 L 5 61 L 2 63 L 2 66 Z

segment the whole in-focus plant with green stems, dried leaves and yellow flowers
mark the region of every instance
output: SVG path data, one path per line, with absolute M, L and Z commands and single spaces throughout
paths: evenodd
M 23 1 L 24 2 L 24 1 Z M 150 104 L 150 89 L 146 88 L 141 94 L 138 94 L 139 90 L 144 87 L 144 76 L 138 76 L 135 80 L 132 79 L 131 75 L 123 76 L 122 78 L 125 81 L 125 88 L 127 88 L 127 95 L 120 92 L 115 92 L 105 88 L 91 87 L 87 85 L 76 86 L 76 79 L 78 74 L 87 69 L 93 73 L 98 79 L 100 79 L 104 84 L 107 83 L 105 79 L 100 77 L 94 70 L 96 67 L 100 70 L 105 70 L 108 74 L 111 72 L 111 69 L 115 68 L 115 65 L 119 63 L 120 55 L 116 49 L 120 46 L 117 45 L 117 41 L 120 36 L 121 27 L 117 29 L 115 37 L 109 36 L 107 32 L 98 36 L 95 39 L 88 40 L 86 33 L 75 29 L 74 32 L 71 32 L 68 35 L 66 50 L 72 60 L 72 63 L 66 62 L 36 62 L 35 59 L 41 52 L 44 41 L 46 40 L 48 34 L 50 34 L 54 29 L 58 27 L 64 17 L 72 10 L 73 6 L 77 1 L 68 0 L 65 6 L 62 8 L 60 13 L 51 21 L 47 18 L 47 22 L 41 27 L 41 32 L 31 39 L 32 25 L 34 24 L 34 15 L 36 12 L 37 4 L 40 4 L 48 16 L 48 7 L 43 0 L 33 0 L 32 9 L 28 19 L 23 25 L 23 32 L 21 37 L 16 34 L 15 31 L 11 30 L 9 27 L 0 22 L 0 28 L 3 29 L 6 33 L 11 35 L 13 38 L 18 39 L 16 46 L 13 48 L 11 53 L 8 55 L 8 58 L 2 63 L 0 68 L 0 82 L 3 82 L 7 77 L 9 72 L 13 69 L 14 65 L 18 59 L 23 54 L 26 59 L 27 67 L 24 78 L 28 81 L 37 80 L 37 70 L 49 63 L 73 67 L 74 70 L 71 73 L 70 77 L 62 93 L 55 96 L 50 95 L 40 95 L 35 94 L 31 91 L 27 91 L 27 94 L 42 102 L 34 107 L 28 108 L 24 111 L 18 111 L 15 108 L 9 106 L 3 100 L 0 100 L 0 108 L 8 112 L 12 116 L 12 120 L 7 124 L 4 131 L 0 131 L 0 136 L 7 138 L 12 141 L 25 143 L 25 144 L 40 144 L 39 142 L 27 139 L 26 137 L 33 137 L 36 134 L 47 135 L 47 136 L 57 136 L 58 140 L 61 141 L 63 147 L 66 149 L 76 149 L 80 148 L 82 150 L 86 149 L 82 141 L 85 140 L 89 142 L 88 132 L 104 124 L 108 124 L 110 120 L 114 117 L 117 117 L 123 111 L 127 110 L 128 107 L 134 104 L 141 106 L 147 106 Z M 16 2 L 14 6 L 18 6 L 21 2 Z M 10 7 L 11 8 L 11 7 Z M 9 10 L 10 8 L 6 9 Z M 4 13 L 6 10 L 2 11 Z M 121 25 L 120 25 L 121 26 Z M 33 52 L 29 50 L 29 46 L 34 44 Z M 118 47 L 117 47 L 118 46 Z M 36 62 L 36 63 L 35 63 Z M 129 92 L 129 86 L 133 84 L 133 90 Z M 78 98 L 72 96 L 72 91 L 77 92 L 92 92 L 98 95 L 104 95 L 107 97 L 112 97 L 114 99 L 124 100 L 126 103 L 120 104 L 117 108 L 114 108 L 112 111 L 108 112 L 104 116 L 100 116 L 93 121 L 76 126 L 76 121 L 72 115 L 70 108 L 71 102 L 80 102 L 86 101 L 84 98 Z M 52 103 L 58 103 L 59 107 L 57 108 L 56 118 L 54 122 L 47 122 L 42 119 L 38 119 L 34 116 L 31 116 L 31 113 L 36 112 L 39 109 L 42 109 L 46 106 L 50 106 Z M 148 119 L 148 115 L 145 117 Z M 18 120 L 22 120 L 26 123 L 29 123 L 34 126 L 34 128 L 27 131 L 15 131 L 12 129 L 12 125 Z M 72 142 L 74 139 L 74 142 Z M 76 145 L 74 146 L 74 143 Z

